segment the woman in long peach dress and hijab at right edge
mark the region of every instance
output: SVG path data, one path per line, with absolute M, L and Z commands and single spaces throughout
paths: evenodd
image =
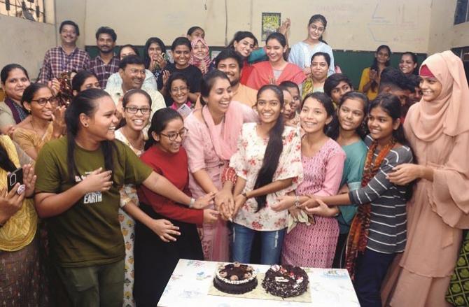
M 407 245 L 381 296 L 391 306 L 451 306 L 444 295 L 469 228 L 469 88 L 451 51 L 428 57 L 420 76 L 422 99 L 404 123 L 418 164 L 389 175 L 398 185 L 418 180 L 407 206 Z

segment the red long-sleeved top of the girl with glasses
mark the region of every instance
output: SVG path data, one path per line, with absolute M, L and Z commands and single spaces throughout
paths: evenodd
M 190 195 L 188 188 L 189 171 L 186 150 L 181 147 L 178 153 L 171 154 L 162 151 L 158 145 L 146 150 L 140 159 L 151 166 L 153 171 L 164 176 L 179 190 Z M 151 205 L 155 212 L 169 219 L 191 224 L 202 224 L 204 211 L 190 209 L 187 206 L 176 204 L 174 201 L 156 194 L 141 185 L 138 189 L 139 201 Z

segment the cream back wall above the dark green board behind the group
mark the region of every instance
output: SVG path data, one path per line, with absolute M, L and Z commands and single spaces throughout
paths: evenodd
M 116 29 L 118 44 L 144 45 L 159 36 L 171 45 L 192 25 L 206 31 L 209 45 L 222 46 L 237 30 L 251 30 L 260 38 L 262 12 L 290 17 L 290 45 L 307 36 L 307 22 L 315 13 L 328 19 L 324 38 L 339 50 L 375 50 L 389 44 L 395 51 L 426 52 L 431 0 L 87 0 L 86 45 L 94 45 L 94 31 L 102 25 Z M 225 2 L 228 24 L 225 21 Z M 294 3 L 294 5 L 293 5 Z M 226 26 L 226 36 L 225 36 Z

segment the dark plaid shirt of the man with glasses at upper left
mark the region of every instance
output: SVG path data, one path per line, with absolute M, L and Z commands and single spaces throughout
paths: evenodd
M 66 71 L 83 71 L 90 66 L 90 56 L 85 50 L 75 48 L 67 55 L 62 46 L 50 48 L 44 55 L 44 62 L 39 73 L 38 83 L 47 84 L 53 78 L 59 78 Z

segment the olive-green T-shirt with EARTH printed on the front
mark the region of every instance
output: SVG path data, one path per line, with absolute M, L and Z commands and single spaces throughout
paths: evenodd
M 89 151 L 76 145 L 78 176 L 71 182 L 66 166 L 66 142 L 66 136 L 50 141 L 39 152 L 36 192 L 59 194 L 69 190 L 95 169 L 104 169 L 101 149 Z M 51 254 L 61 266 L 110 264 L 125 257 L 118 220 L 119 188 L 127 183 L 141 184 L 150 176 L 152 169 L 141 162 L 127 145 L 117 140 L 113 143 L 117 152 L 114 151 L 111 190 L 87 193 L 69 210 L 48 219 Z

